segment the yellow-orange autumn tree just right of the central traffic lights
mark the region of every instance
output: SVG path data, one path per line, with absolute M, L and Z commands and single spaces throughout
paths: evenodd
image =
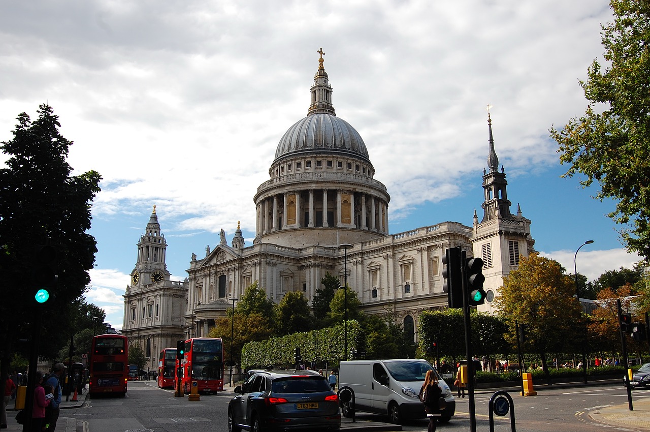
M 503 278 L 495 307 L 506 319 L 515 344 L 515 323 L 528 326 L 523 350 L 538 353 L 549 378 L 547 353 L 571 352 L 580 347 L 585 334 L 584 320 L 575 297 L 575 281 L 564 274 L 562 265 L 538 254 L 522 256 L 519 267 Z M 575 326 L 574 324 L 577 324 Z

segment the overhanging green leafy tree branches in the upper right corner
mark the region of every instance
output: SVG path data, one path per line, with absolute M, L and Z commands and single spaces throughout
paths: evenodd
M 583 187 L 598 182 L 595 198 L 617 201 L 609 217 L 634 225 L 621 232 L 628 249 L 650 256 L 650 3 L 610 6 L 614 22 L 601 25 L 606 66 L 593 61 L 580 81 L 589 101 L 584 116 L 551 128 L 551 137 L 560 163 L 571 165 L 564 177 L 584 174 Z

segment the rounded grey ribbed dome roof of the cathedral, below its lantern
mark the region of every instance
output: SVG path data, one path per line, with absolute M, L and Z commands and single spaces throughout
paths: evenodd
M 276 149 L 276 159 L 289 155 L 328 152 L 370 162 L 361 135 L 348 122 L 328 113 L 310 113 L 284 134 Z

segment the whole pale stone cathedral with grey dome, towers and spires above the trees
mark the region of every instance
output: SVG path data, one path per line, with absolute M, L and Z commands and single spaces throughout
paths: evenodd
M 487 312 L 502 277 L 517 268 L 520 255 L 534 251 L 530 221 L 519 206 L 515 215 L 510 212 L 489 116 L 481 221 L 474 211 L 473 226 L 443 222 L 389 234 L 390 195 L 374 178 L 359 133 L 335 114 L 319 52 L 307 116 L 281 137 L 269 180 L 255 192 L 252 245 L 246 246 L 239 223 L 230 245 L 221 230 L 220 243 L 205 256 L 192 254 L 186 280 L 171 281 L 154 207 L 138 242 L 122 327 L 148 353 L 152 370 L 162 348 L 205 336 L 256 281 L 274 303 L 299 291 L 311 304 L 327 273 L 343 285 L 347 271 L 348 286 L 367 314 L 392 314 L 417 340 L 421 311 L 447 307 L 441 262 L 446 249 L 461 247 L 484 260 L 487 301 L 479 310 Z

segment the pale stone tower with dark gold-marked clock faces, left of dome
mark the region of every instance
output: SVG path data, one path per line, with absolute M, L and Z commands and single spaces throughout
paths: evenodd
M 147 358 L 145 370 L 155 371 L 162 348 L 183 339 L 181 316 L 187 291 L 185 281 L 170 280 L 165 257 L 167 241 L 161 234 L 156 206 L 140 241 L 135 268 L 124 293 L 122 334 L 129 347 L 138 345 Z

